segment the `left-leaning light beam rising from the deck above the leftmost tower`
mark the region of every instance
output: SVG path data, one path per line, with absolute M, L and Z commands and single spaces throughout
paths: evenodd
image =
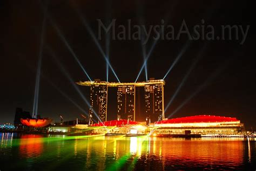
M 64 37 L 63 33 L 60 31 L 59 27 L 57 26 L 56 22 L 52 19 L 52 17 L 50 16 L 50 14 L 48 13 L 48 19 L 50 20 L 52 26 L 55 28 L 58 36 L 60 37 L 60 39 L 64 42 L 65 46 L 69 49 L 69 52 L 72 54 L 73 58 L 77 61 L 78 65 L 80 66 L 80 68 L 83 70 L 83 72 L 85 73 L 85 75 L 88 77 L 88 79 L 90 81 L 91 77 L 87 74 L 86 70 L 84 69 L 82 63 L 79 61 L 76 53 L 73 51 L 73 49 L 71 48 L 71 46 L 69 45 L 68 41 L 66 40 L 66 38 Z

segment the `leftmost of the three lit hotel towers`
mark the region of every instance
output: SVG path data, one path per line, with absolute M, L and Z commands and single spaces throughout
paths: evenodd
M 99 80 L 96 80 L 95 82 L 99 82 Z M 89 111 L 89 115 L 92 116 L 93 120 L 98 120 L 99 122 L 106 121 L 107 85 L 91 86 L 91 108 Z

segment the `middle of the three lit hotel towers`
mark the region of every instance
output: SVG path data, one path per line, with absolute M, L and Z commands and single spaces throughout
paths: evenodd
M 117 118 L 135 120 L 135 87 L 117 88 Z

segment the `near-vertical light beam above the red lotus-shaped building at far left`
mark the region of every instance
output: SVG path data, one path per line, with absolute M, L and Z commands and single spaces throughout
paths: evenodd
M 46 13 L 47 13 L 47 6 L 44 9 L 44 19 L 43 19 L 43 23 L 42 23 L 41 42 L 40 42 L 40 48 L 39 48 L 39 58 L 38 58 L 38 63 L 37 63 L 36 86 L 35 86 L 35 95 L 34 95 L 33 112 L 32 112 L 32 117 L 33 118 L 37 118 L 37 110 L 38 110 L 38 96 L 39 96 L 39 84 L 40 84 L 41 66 L 42 66 L 42 58 L 43 58 Z

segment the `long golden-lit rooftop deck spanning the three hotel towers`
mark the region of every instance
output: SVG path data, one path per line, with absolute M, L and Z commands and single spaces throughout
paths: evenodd
M 96 85 L 104 85 L 108 87 L 119 87 L 119 86 L 135 86 L 135 87 L 144 87 L 146 85 L 154 85 L 154 84 L 161 84 L 165 85 L 164 80 L 149 80 L 144 82 L 106 82 L 106 81 L 80 81 L 76 82 L 80 86 L 96 86 Z

